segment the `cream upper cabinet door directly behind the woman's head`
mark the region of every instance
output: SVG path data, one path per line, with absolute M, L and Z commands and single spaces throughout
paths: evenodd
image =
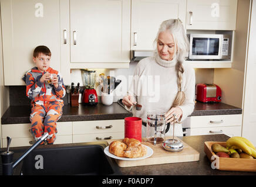
M 161 22 L 177 18 L 185 27 L 186 0 L 132 0 L 131 49 L 153 50 Z

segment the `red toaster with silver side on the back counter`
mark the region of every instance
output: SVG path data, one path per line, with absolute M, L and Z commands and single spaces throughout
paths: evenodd
M 221 89 L 215 84 L 197 84 L 196 100 L 204 103 L 221 102 Z

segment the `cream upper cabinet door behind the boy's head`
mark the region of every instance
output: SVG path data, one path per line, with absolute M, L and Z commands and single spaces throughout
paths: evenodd
M 36 46 L 52 52 L 50 66 L 60 71 L 59 0 L 1 0 L 5 85 L 24 85 L 23 75 L 34 67 Z

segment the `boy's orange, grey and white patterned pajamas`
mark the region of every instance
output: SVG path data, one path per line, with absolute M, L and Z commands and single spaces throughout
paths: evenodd
M 65 96 L 66 91 L 59 72 L 50 67 L 46 71 L 58 75 L 59 87 L 56 89 L 51 84 L 41 83 L 39 80 L 44 73 L 34 67 L 26 73 L 26 95 L 32 100 L 29 119 L 33 137 L 37 141 L 48 132 L 48 144 L 53 144 L 57 133 L 56 122 L 62 116 L 63 101 L 60 98 Z

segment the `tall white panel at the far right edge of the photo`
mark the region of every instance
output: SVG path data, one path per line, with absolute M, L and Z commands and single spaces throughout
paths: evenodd
M 256 1 L 252 1 L 250 40 L 248 43 L 248 57 L 244 87 L 244 117 L 242 120 L 242 137 L 248 138 L 256 145 Z

